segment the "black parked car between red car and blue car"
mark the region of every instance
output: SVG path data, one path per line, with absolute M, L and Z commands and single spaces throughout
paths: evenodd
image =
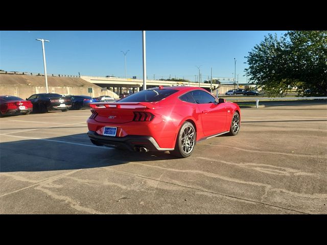
M 42 113 L 53 110 L 67 111 L 72 107 L 71 98 L 64 97 L 58 93 L 33 94 L 26 100 L 32 102 L 33 111 Z

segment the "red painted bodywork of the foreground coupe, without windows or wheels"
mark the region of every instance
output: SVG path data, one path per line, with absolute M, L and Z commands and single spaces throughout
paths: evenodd
M 174 149 L 179 129 L 186 120 L 193 122 L 196 128 L 196 140 L 198 141 L 229 131 L 232 115 L 235 111 L 238 111 L 241 116 L 240 108 L 235 103 L 193 104 L 178 99 L 179 96 L 191 90 L 207 92 L 205 89 L 196 87 L 169 87 L 168 89 L 179 91 L 159 102 L 134 103 L 144 104 L 146 108 L 92 109 L 98 113 L 98 116 L 87 120 L 88 129 L 102 135 L 105 126 L 117 127 L 117 137 L 127 135 L 152 136 L 160 148 Z M 109 104 L 119 105 L 119 102 Z M 151 112 L 154 118 L 151 121 L 133 121 L 133 111 Z M 114 116 L 114 118 L 109 119 L 108 116 Z

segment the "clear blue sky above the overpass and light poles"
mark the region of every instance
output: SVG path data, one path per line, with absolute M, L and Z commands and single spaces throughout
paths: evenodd
M 236 58 L 239 82 L 246 81 L 244 56 L 268 33 L 286 31 L 147 31 L 148 79 L 172 78 L 194 81 L 200 66 L 202 81 L 210 76 L 231 78 Z M 45 43 L 48 74 L 125 76 L 142 79 L 141 31 L 1 31 L 0 69 L 43 73 L 41 42 Z

